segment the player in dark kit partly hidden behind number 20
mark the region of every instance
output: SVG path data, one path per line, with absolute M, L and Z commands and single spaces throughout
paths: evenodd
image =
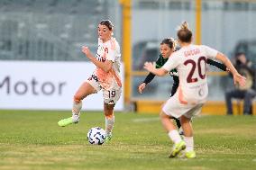
M 178 50 L 178 49 L 176 49 L 175 40 L 173 38 L 166 38 L 162 40 L 160 42 L 160 56 L 156 61 L 155 67 L 156 68 L 162 67 L 175 50 Z M 226 71 L 226 67 L 224 66 L 224 64 L 218 63 L 212 59 L 207 59 L 206 63 Z M 169 75 L 172 76 L 173 78 L 173 85 L 170 93 L 170 96 L 173 96 L 178 89 L 178 83 L 179 83 L 177 69 L 170 70 Z M 152 74 L 151 72 L 148 74 L 148 76 L 146 76 L 142 84 L 138 86 L 138 91 L 140 94 L 142 94 L 142 91 L 145 89 L 146 85 L 151 83 L 154 77 L 155 75 Z M 172 119 L 176 121 L 178 129 L 180 129 L 181 127 L 180 121 L 175 117 L 172 117 Z M 179 133 L 183 135 L 182 130 L 180 130 Z

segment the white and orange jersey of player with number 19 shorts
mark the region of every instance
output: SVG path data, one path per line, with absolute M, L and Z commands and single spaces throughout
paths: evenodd
M 105 90 L 121 88 L 121 53 L 118 42 L 114 38 L 111 38 L 105 43 L 103 43 L 102 40 L 98 39 L 96 58 L 101 62 L 105 62 L 105 60 L 110 60 L 113 62 L 113 66 L 108 73 L 106 73 L 103 69 L 96 67 L 94 73 L 96 74 L 101 87 Z

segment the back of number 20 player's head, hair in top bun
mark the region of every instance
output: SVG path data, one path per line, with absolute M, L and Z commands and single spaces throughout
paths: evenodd
M 187 22 L 183 22 L 177 32 L 178 40 L 181 42 L 191 42 L 192 40 L 192 31 L 188 29 Z

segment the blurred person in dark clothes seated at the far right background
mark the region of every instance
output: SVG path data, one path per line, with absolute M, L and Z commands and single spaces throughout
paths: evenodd
M 244 88 L 235 86 L 235 88 L 228 90 L 225 93 L 225 103 L 227 107 L 227 115 L 233 114 L 232 99 L 242 99 L 243 102 L 243 114 L 252 114 L 252 100 L 256 96 L 256 92 L 253 89 L 255 70 L 252 67 L 252 63 L 246 58 L 244 53 L 237 53 L 233 58 L 233 66 L 238 72 L 247 78 L 247 84 Z

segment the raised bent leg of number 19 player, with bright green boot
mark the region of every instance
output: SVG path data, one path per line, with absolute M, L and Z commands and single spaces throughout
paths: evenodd
M 73 108 L 72 108 L 72 117 L 67 119 L 60 120 L 58 122 L 59 126 L 67 126 L 72 123 L 78 123 L 80 111 L 82 109 L 82 100 L 87 97 L 89 94 L 95 94 L 95 88 L 88 84 L 87 82 L 83 83 L 79 88 L 77 93 L 74 95 Z

